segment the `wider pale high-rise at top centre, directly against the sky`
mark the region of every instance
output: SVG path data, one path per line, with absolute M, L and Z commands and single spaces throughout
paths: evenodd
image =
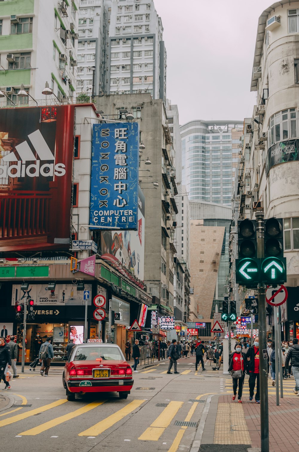
M 150 93 L 166 103 L 166 50 L 153 0 L 112 0 L 107 40 L 107 94 Z

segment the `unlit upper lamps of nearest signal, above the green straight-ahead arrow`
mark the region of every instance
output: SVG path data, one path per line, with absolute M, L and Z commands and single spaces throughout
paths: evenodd
M 283 220 L 269 218 L 265 221 L 264 235 L 265 258 L 284 256 Z

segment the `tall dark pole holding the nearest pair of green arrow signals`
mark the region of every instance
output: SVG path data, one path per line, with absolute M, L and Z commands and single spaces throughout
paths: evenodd
M 257 257 L 264 259 L 264 212 L 257 211 Z M 269 407 L 268 407 L 268 372 L 267 360 L 262 350 L 266 349 L 266 291 L 264 284 L 259 284 L 258 293 L 258 336 L 260 358 L 260 397 L 261 397 L 261 452 L 269 452 Z

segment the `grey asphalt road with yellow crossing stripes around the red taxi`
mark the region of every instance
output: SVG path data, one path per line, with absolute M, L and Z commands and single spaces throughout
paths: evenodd
M 46 378 L 37 367 L 37 372 L 26 370 L 12 381 L 5 395 L 13 405 L 0 412 L 0 440 L 5 448 L 16 452 L 37 448 L 187 452 L 208 395 L 220 393 L 220 378 L 195 373 L 194 364 L 184 363 L 178 366 L 180 374 L 168 375 L 161 363 L 133 374 L 134 386 L 126 400 L 106 393 L 68 402 L 62 370 L 50 369 Z M 192 424 L 175 425 L 176 421 Z

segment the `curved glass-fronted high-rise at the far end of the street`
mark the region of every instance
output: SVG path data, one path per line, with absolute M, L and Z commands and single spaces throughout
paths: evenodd
M 182 183 L 190 201 L 231 204 L 243 121 L 189 121 L 180 127 Z

